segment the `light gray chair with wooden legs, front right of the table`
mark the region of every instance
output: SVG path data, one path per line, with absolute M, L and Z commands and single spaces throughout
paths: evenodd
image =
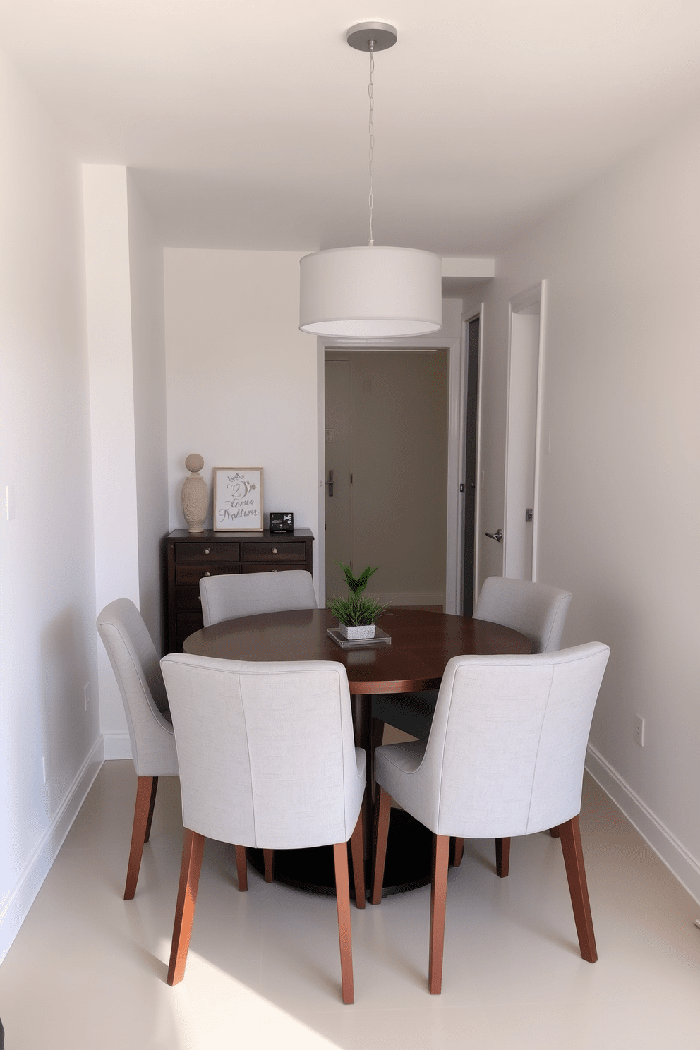
M 372 903 L 382 894 L 390 799 L 434 835 L 428 985 L 442 987 L 450 836 L 558 827 L 581 957 L 597 959 L 578 813 L 593 710 L 610 649 L 594 642 L 534 656 L 457 656 L 427 743 L 377 749 L 381 785 Z

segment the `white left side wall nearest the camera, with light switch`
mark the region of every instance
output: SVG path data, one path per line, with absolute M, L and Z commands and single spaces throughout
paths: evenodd
M 100 755 L 81 170 L 2 55 L 0 139 L 2 959 Z

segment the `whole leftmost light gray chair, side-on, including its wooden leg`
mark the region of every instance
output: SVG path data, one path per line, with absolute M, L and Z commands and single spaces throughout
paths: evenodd
M 122 694 L 139 777 L 124 890 L 124 900 L 130 901 L 151 832 L 158 777 L 177 776 L 177 752 L 158 657 L 133 602 L 123 597 L 106 605 L 98 616 L 98 631 Z

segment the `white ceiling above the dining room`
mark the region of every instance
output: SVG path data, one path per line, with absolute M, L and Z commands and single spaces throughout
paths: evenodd
M 126 164 L 167 245 L 375 238 L 493 255 L 700 103 L 700 0 L 0 0 L 81 160 Z

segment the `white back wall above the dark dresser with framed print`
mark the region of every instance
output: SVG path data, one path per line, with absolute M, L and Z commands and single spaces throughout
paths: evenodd
M 264 513 L 292 510 L 316 531 L 316 339 L 299 332 L 300 254 L 165 251 L 171 528 L 186 528 L 185 458 L 199 453 L 210 500 L 213 467 L 261 466 Z

